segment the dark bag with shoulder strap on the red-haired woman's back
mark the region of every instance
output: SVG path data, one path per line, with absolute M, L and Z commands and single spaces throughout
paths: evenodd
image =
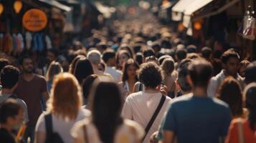
M 57 132 L 52 132 L 52 114 L 44 115 L 45 128 L 47 132 L 46 143 L 64 143 Z

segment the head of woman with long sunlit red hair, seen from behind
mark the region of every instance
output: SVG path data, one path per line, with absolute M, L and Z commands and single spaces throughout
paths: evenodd
M 48 112 L 72 120 L 76 119 L 81 105 L 82 91 L 77 79 L 69 73 L 56 75 L 47 104 Z

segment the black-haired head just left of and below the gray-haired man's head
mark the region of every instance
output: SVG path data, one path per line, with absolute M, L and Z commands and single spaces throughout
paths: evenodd
M 86 79 L 86 77 L 88 77 L 90 74 L 93 74 L 93 66 L 90 64 L 89 59 L 85 57 L 78 59 L 75 65 L 74 73 L 80 84 L 82 84 L 82 81 Z

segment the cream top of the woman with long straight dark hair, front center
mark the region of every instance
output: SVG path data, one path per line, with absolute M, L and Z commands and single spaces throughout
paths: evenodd
M 86 127 L 86 136 L 83 126 Z M 98 129 L 92 122 L 90 122 L 90 119 L 77 122 L 71 129 L 71 134 L 72 137 L 79 139 L 81 143 L 85 142 L 85 137 L 87 137 L 88 142 L 102 143 Z M 123 124 L 121 124 L 115 132 L 114 143 L 137 142 L 143 138 L 143 135 L 144 130 L 141 125 L 131 120 L 124 119 Z

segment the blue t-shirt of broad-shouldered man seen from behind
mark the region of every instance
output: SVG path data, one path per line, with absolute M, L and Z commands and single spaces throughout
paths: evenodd
M 163 131 L 174 132 L 181 143 L 216 143 L 227 136 L 230 122 L 229 107 L 221 100 L 184 96 L 170 104 Z

